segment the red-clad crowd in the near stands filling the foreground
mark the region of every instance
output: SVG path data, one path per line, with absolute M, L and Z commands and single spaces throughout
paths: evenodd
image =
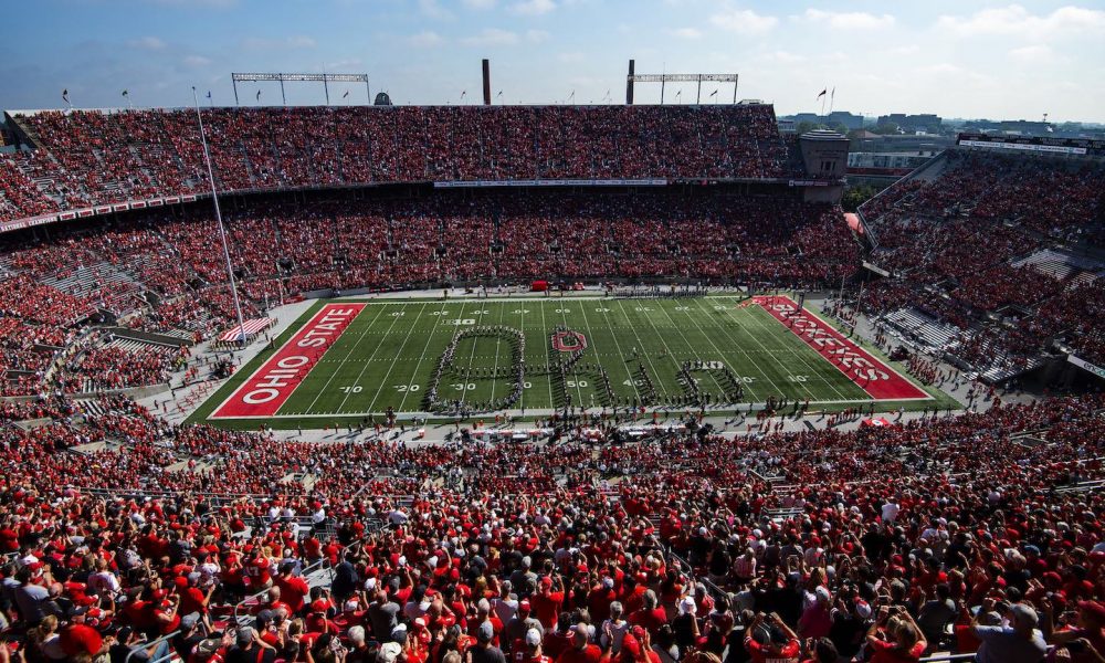
M 1096 661 L 1102 494 L 1076 488 L 1102 478 L 1103 407 L 736 439 L 688 418 L 596 449 L 570 430 L 544 445 L 277 443 L 124 398 L 83 415 L 42 401 L 6 415 L 51 424 L 0 430 L 3 646 L 28 661 L 1038 662 L 1048 646 Z M 305 475 L 309 491 L 288 478 Z M 332 570 L 304 573 L 316 562 Z

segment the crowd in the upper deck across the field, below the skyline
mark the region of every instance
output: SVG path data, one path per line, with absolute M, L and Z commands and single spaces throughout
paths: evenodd
M 0 156 L 0 220 L 206 191 L 191 110 L 17 115 L 36 151 Z M 781 178 L 770 105 L 203 110 L 221 191 L 368 182 Z M 40 154 L 41 152 L 41 154 Z

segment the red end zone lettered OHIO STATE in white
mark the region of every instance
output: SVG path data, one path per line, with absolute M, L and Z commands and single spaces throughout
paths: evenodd
M 364 308 L 364 304 L 323 306 L 295 336 L 242 382 L 209 419 L 275 414 Z

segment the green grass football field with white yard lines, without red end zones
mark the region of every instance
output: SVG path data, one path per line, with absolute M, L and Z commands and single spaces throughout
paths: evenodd
M 771 315 L 759 306 L 741 307 L 740 302 L 369 301 L 266 423 L 323 428 L 388 408 L 400 415 L 430 412 L 432 419 L 451 417 L 455 407 L 539 417 L 565 404 L 676 409 L 705 399 L 715 409 L 732 410 L 738 403 L 785 396 L 839 409 L 871 401 Z M 277 348 L 323 304 L 276 339 Z M 567 345 L 562 349 L 552 343 L 558 330 L 577 333 L 561 335 Z M 451 344 L 452 361 L 435 380 L 435 368 Z M 273 351 L 266 349 L 243 367 L 191 421 L 206 420 Z M 570 367 L 559 370 L 568 359 L 573 359 Z M 519 375 L 520 396 L 512 399 Z M 434 387 L 436 403 L 427 399 Z M 943 406 L 945 399 L 938 402 Z M 887 403 L 880 406 L 886 409 Z M 217 423 L 259 425 L 255 420 Z

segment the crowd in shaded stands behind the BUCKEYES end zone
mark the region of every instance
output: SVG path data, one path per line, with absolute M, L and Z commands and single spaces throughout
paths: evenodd
M 865 309 L 912 305 L 960 327 L 951 351 L 969 364 L 1027 364 L 1055 337 L 1105 361 L 1102 333 L 1087 324 L 1101 280 L 1012 264 L 1056 243 L 1097 242 L 1105 169 L 964 150 L 943 159 L 861 208 L 877 242 L 871 260 L 894 273 L 865 293 Z

